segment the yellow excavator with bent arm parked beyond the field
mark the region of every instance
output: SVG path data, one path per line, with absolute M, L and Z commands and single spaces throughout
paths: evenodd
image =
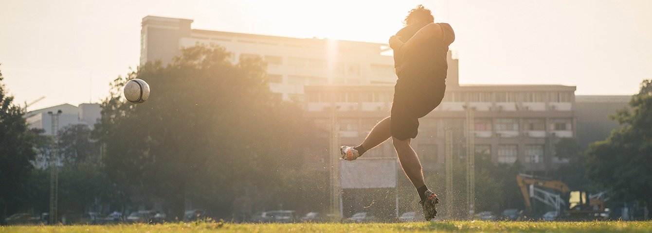
M 555 208 L 560 220 L 596 220 L 606 217 L 604 211 L 604 192 L 589 195 L 586 191 L 571 191 L 561 180 L 516 175 L 516 182 L 526 204 L 526 214 L 532 214 L 531 199 Z M 554 192 L 550 191 L 554 190 Z

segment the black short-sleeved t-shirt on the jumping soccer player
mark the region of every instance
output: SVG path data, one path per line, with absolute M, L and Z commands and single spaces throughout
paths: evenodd
M 408 25 L 402 28 L 396 36 L 401 36 L 402 42 L 407 42 L 414 34 L 427 23 Z M 394 66 L 402 74 L 426 75 L 428 77 L 446 78 L 448 62 L 446 55 L 449 45 L 455 40 L 455 33 L 448 23 L 437 23 L 441 27 L 443 36 L 440 41 L 418 45 L 408 51 L 394 51 Z

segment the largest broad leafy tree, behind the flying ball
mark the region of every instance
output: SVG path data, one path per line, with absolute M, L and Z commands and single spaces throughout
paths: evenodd
M 274 208 L 278 197 L 293 195 L 278 185 L 302 160 L 301 108 L 273 97 L 260 58 L 230 57 L 218 46 L 195 46 L 167 66 L 148 62 L 115 79 L 93 135 L 124 199 L 159 200 L 181 219 L 186 200 L 230 217 L 234 206 Z M 133 78 L 149 83 L 147 102 L 121 98 Z

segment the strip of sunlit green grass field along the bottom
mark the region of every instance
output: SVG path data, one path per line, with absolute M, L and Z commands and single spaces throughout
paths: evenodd
M 652 232 L 652 221 L 0 226 L 0 233 L 5 232 Z

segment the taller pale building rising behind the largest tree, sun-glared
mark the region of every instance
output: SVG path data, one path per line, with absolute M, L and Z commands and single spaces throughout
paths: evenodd
M 191 29 L 191 23 L 192 20 L 178 18 L 143 18 L 141 64 L 157 59 L 168 63 L 181 55 L 181 48 L 216 44 L 233 54 L 233 62 L 262 57 L 267 62 L 269 88 L 283 100 L 304 100 L 306 85 L 396 81 L 392 51 L 387 44 L 207 31 Z M 449 66 L 451 72 L 457 72 L 456 60 Z M 451 83 L 456 85 L 457 81 Z

